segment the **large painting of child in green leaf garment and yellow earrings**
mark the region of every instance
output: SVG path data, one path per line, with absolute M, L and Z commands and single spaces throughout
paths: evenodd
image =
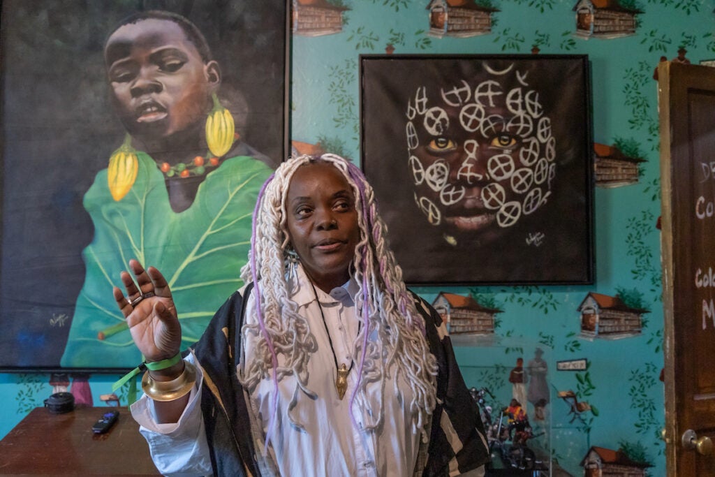
M 21 237 L 6 235 L 8 228 L 19 228 L 13 215 L 4 216 L 3 295 L 9 289 L 9 275 L 26 287 L 39 287 L 46 296 L 58 287 L 65 295 L 64 303 L 25 303 L 30 310 L 25 318 L 30 319 L 23 330 L 4 333 L 7 346 L 0 352 L 0 365 L 136 365 L 141 357 L 132 349 L 112 297 L 112 286 L 119 283 L 119 272 L 131 258 L 170 270 L 167 279 L 183 310 L 179 318 L 184 345 L 199 338 L 213 310 L 241 285 L 239 272 L 247 257 L 258 191 L 285 154 L 285 2 L 256 6 L 245 1 L 178 1 L 172 2 L 173 9 L 163 10 L 144 3 L 142 9 L 136 2 L 131 8 L 119 2 L 94 12 L 109 15 L 112 24 L 103 20 L 107 29 L 101 41 L 88 46 L 94 62 L 101 62 L 88 63 L 90 78 L 84 79 L 88 85 L 90 80 L 102 82 L 101 100 L 95 84 L 89 92 L 97 95 L 96 105 L 106 115 L 90 109 L 87 119 L 102 117 L 100 122 L 74 124 L 97 142 L 82 148 L 84 162 L 75 171 L 82 177 L 79 184 L 88 184 L 79 197 L 82 187 L 77 182 L 45 181 L 45 186 L 60 191 L 56 195 L 64 194 L 65 207 L 71 209 L 61 217 L 70 223 L 61 222 L 59 228 L 84 228 L 79 234 L 69 232 L 79 242 L 39 253 L 49 260 L 61 255 L 63 266 L 43 271 L 38 260 L 35 273 L 29 274 L 22 265 L 13 265 L 6 252 L 19 250 Z M 91 17 L 93 12 L 87 9 L 93 7 L 83 4 L 77 2 L 75 14 Z M 29 14 L 19 2 L 4 2 L 3 8 L 4 29 L 9 28 L 6 11 L 9 16 Z M 20 36 L 16 31 L 9 34 Z M 275 51 L 268 51 L 267 45 Z M 12 48 L 13 44 L 6 46 Z M 61 90 L 58 80 L 56 91 L 48 93 Z M 77 100 L 82 108 L 89 103 Z M 6 108 L 6 117 L 8 113 Z M 89 132 L 93 127 L 106 136 Z M 16 145 L 16 138 L 9 139 L 6 164 L 9 149 Z M 69 153 L 55 137 L 47 142 L 55 152 Z M 32 182 L 30 190 L 37 187 Z M 10 210 L 16 207 L 14 200 L 12 194 L 6 195 L 4 210 L 9 202 Z M 82 218 L 74 221 L 80 214 L 89 217 L 91 227 Z M 38 217 L 36 232 L 52 240 L 54 231 L 46 228 Z M 0 328 L 22 315 L 18 308 L 4 301 Z M 23 340 L 29 348 L 36 345 L 34 357 L 24 356 L 24 351 L 10 354 L 28 348 L 22 348 Z

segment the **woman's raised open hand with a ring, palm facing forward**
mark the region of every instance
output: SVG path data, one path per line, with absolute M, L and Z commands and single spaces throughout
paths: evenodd
M 134 343 L 147 362 L 173 358 L 181 349 L 181 325 L 167 280 L 159 270 L 129 260 L 129 272 L 122 272 L 124 295 L 114 287 L 114 300 L 127 318 Z

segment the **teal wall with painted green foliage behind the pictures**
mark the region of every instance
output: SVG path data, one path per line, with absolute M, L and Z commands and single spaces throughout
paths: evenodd
M 646 162 L 637 184 L 595 193 L 596 282 L 589 286 L 538 287 L 420 287 L 428 300 L 440 291 L 473 293 L 500 308 L 493 343 L 465 343 L 457 355 L 470 386 L 487 385 L 493 403 L 508 403 L 508 372 L 516 358 L 525 362 L 536 346 L 546 350 L 551 403 L 546 433 L 535 446 L 551 449 L 559 465 L 581 475 L 579 463 L 590 446 L 636 449 L 665 474 L 658 117 L 654 68 L 661 55 L 673 59 L 685 46 L 693 63 L 715 58 L 713 4 L 700 0 L 640 1 L 633 36 L 581 39 L 576 29 L 575 1 L 495 1 L 490 34 L 437 39 L 428 30 L 427 0 L 345 0 L 342 32 L 328 36 L 294 36 L 292 43 L 292 139 L 331 144 L 334 152 L 358 161 L 358 54 L 588 54 L 593 89 L 593 137 L 596 142 L 625 141 Z M 396 138 L 395 140 L 402 140 Z M 578 305 L 588 292 L 621 292 L 650 310 L 641 335 L 621 340 L 578 337 Z M 586 358 L 588 370 L 557 371 L 556 362 Z M 93 376 L 94 402 L 108 393 L 117 376 Z M 51 393 L 48 375 L 0 375 L 0 436 Z M 573 390 L 596 413 L 573 418 L 558 399 L 560 390 Z

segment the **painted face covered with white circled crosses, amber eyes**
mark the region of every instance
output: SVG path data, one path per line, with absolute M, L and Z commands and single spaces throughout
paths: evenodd
M 415 202 L 445 239 L 492 242 L 544 205 L 556 139 L 528 74 L 487 68 L 470 81 L 419 87 L 407 107 Z

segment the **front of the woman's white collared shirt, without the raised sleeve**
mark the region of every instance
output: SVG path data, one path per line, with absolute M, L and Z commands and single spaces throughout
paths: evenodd
M 352 409 L 358 428 L 350 417 L 350 398 L 360 368 L 360 357 L 353 357 L 360 329 L 354 303 L 357 283 L 350 280 L 328 294 L 317 287 L 314 292 L 301 267 L 297 268 L 296 275 L 290 280 L 292 300 L 298 305 L 298 313 L 307 317 L 310 333 L 317 342 L 317 350 L 307 365 L 307 388 L 316 397 L 312 399 L 303 393 L 297 387 L 294 375 L 280 381 L 279 418 L 270 449 L 277 468 L 284 476 L 411 476 L 420 436 L 412 433 L 412 416 L 406 408 L 412 400 L 412 390 L 400 378 L 398 387 L 402 397 L 398 398 L 395 393 L 395 370 L 390 373 L 392 378 L 383 378 L 368 385 L 366 399 L 361 393 L 355 396 Z M 315 300 L 316 294 L 320 306 Z M 247 317 L 255 316 L 253 306 L 253 300 L 250 300 Z M 245 343 L 245 353 L 250 353 L 251 347 L 251 343 Z M 280 360 L 279 355 L 279 365 L 282 364 Z M 337 365 L 345 363 L 347 368 L 354 361 L 342 400 L 338 398 L 335 388 L 336 360 Z M 366 410 L 372 410 L 373 415 L 378 412 L 381 386 L 384 386 L 383 425 L 378 431 L 361 431 L 365 418 L 369 418 L 370 414 Z M 264 379 L 250 396 L 252 411 L 262 417 L 264 435 L 274 390 L 272 380 Z M 298 398 L 290 415 L 302 426 L 302 430 L 294 426 L 287 414 L 294 393 L 298 393 Z

